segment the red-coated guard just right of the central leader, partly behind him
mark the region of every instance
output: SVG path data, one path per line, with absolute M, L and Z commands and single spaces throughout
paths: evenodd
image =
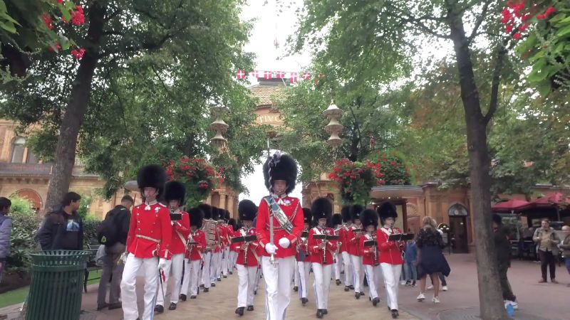
M 309 256 L 311 252 L 308 250 L 308 241 L 309 241 L 309 226 L 311 225 L 311 209 L 303 208 L 303 231 L 301 232 L 301 237 L 297 241 L 297 267 L 295 269 L 295 278 L 297 281 L 295 282 L 297 289 L 293 287 L 294 291 L 299 291 L 299 299 L 301 299 L 301 304 L 306 304 L 309 302 L 307 299 L 307 280 L 309 279 L 309 272 L 311 271 L 311 259 Z M 303 237 L 303 233 L 306 232 L 306 237 Z

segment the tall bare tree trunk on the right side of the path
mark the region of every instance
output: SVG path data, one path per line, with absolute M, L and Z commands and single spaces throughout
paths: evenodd
M 460 76 L 461 99 L 467 123 L 467 150 L 470 160 L 471 194 L 475 222 L 477 279 L 480 316 L 485 320 L 509 319 L 504 311 L 494 241 L 491 232 L 491 179 L 487 149 L 487 121 L 481 112 L 469 43 L 463 28 L 462 12 L 447 4 L 447 23 L 455 47 Z

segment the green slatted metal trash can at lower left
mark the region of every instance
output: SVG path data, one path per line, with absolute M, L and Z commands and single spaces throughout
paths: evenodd
M 89 251 L 49 250 L 31 254 L 26 320 L 78 320 Z

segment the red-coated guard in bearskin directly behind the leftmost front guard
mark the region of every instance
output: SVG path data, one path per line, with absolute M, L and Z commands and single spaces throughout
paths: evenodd
M 172 243 L 170 244 L 170 252 L 172 258 L 167 261 L 164 268 L 164 276 L 162 278 L 162 287 L 158 288 L 156 297 L 155 311 L 162 314 L 165 311 L 164 297 L 170 292 L 169 310 L 175 310 L 180 294 L 180 282 L 182 281 L 182 268 L 184 267 L 184 255 L 188 235 L 190 235 L 190 218 L 188 213 L 180 209 L 186 198 L 186 188 L 178 181 L 170 181 L 165 185 L 165 201 L 170 208 L 170 213 L 180 214 L 180 220 L 172 220 Z M 172 289 L 168 290 L 168 279 L 172 270 Z M 160 284 L 159 284 L 160 286 Z

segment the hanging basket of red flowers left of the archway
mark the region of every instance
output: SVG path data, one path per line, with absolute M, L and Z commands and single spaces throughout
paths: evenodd
M 170 181 L 180 181 L 186 186 L 187 208 L 197 206 L 209 193 L 224 183 L 219 170 L 205 159 L 190 159 L 187 156 L 170 160 L 166 174 Z

